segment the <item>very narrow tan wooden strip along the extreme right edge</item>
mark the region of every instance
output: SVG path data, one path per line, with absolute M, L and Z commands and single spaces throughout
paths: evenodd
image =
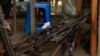
M 97 56 L 100 56 L 100 0 L 99 0 L 99 15 L 98 15 L 98 53 Z

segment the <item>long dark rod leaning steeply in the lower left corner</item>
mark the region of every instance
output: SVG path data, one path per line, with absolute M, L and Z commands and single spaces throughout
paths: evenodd
M 3 41 L 5 53 L 7 53 L 8 56 L 15 56 L 13 46 L 7 33 L 7 29 L 3 27 L 3 20 L 4 18 L 0 17 L 0 38 Z

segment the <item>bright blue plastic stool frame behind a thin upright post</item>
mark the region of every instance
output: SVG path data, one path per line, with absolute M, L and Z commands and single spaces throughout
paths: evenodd
M 51 9 L 50 4 L 47 2 L 35 2 L 35 8 L 42 8 L 43 9 L 43 23 L 51 22 Z M 34 13 L 34 12 L 33 12 Z M 30 32 L 30 4 L 27 5 L 27 14 L 25 18 L 25 32 Z M 36 24 L 36 31 L 42 31 L 41 28 L 43 24 Z

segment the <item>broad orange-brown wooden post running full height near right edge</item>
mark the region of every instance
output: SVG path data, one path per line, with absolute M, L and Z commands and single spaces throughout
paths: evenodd
M 91 0 L 90 56 L 97 56 L 97 0 Z

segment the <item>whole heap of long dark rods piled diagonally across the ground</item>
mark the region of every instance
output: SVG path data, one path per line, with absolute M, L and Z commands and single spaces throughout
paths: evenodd
M 66 43 L 72 45 L 68 45 L 68 52 L 71 53 L 72 48 L 74 48 L 75 41 L 76 41 L 76 33 L 78 29 L 87 21 L 89 17 L 88 14 L 83 14 L 80 17 L 77 17 L 75 20 L 71 21 L 69 24 L 63 24 L 59 25 L 58 27 L 54 27 L 49 30 L 50 34 L 45 34 L 47 33 L 46 31 L 43 32 L 35 32 L 35 33 L 27 33 L 26 38 L 24 38 L 22 41 L 19 43 L 12 45 L 9 36 L 7 35 L 6 29 L 2 28 L 0 26 L 0 32 L 2 33 L 2 40 L 3 43 L 5 44 L 5 51 L 8 54 L 7 56 L 18 56 L 22 53 L 27 52 L 31 48 L 37 48 L 41 46 L 44 43 L 47 43 L 48 41 L 53 41 L 53 38 L 57 38 L 55 42 L 58 43 L 59 46 L 62 44 Z M 1 20 L 2 21 L 2 20 Z M 27 44 L 22 50 L 18 50 L 18 47 Z M 40 48 L 40 47 L 39 47 Z M 59 47 L 57 48 L 59 49 Z M 57 50 L 56 50 L 57 51 Z M 56 51 L 53 53 L 52 56 L 56 53 Z

